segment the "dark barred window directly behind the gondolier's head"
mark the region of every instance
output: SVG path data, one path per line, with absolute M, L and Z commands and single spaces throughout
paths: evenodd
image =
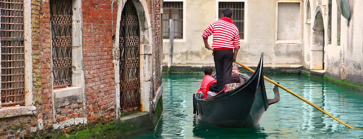
M 240 39 L 244 39 L 245 26 L 245 3 L 244 2 L 219 2 L 218 3 L 218 19 L 222 18 L 223 10 L 229 8 L 232 10 L 232 21 L 236 24 Z

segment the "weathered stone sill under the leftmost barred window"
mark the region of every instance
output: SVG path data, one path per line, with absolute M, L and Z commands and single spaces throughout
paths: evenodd
M 7 118 L 21 115 L 35 115 L 36 107 L 34 106 L 12 106 L 0 109 L 0 118 Z

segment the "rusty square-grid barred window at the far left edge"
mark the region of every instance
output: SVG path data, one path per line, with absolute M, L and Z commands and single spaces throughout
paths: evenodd
M 0 107 L 24 106 L 23 0 L 0 0 Z

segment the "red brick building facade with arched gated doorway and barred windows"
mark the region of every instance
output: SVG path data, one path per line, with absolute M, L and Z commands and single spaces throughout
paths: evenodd
M 156 125 L 161 0 L 0 4 L 0 138 L 52 137 L 129 111 Z

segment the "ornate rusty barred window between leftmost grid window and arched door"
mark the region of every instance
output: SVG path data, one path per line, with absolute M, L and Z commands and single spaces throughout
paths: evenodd
M 72 85 L 72 0 L 50 1 L 53 88 Z

